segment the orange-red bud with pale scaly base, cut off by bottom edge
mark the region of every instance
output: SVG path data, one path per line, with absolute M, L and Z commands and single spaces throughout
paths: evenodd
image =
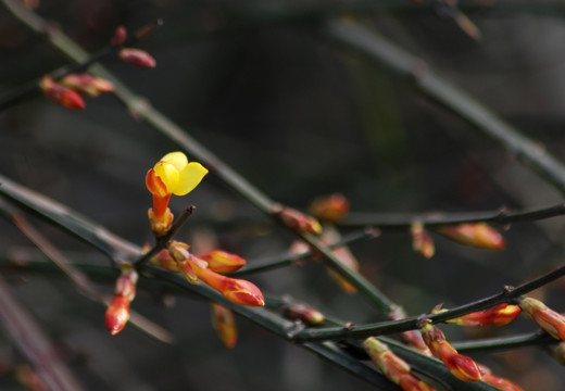
M 363 341 L 363 349 L 382 374 L 393 383 L 400 386 L 402 390 L 435 390 L 431 386 L 412 375 L 410 365 L 395 355 L 387 344 L 380 342 L 377 338 L 369 337 Z

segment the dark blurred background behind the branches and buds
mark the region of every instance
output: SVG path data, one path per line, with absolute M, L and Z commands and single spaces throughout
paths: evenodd
M 431 70 L 565 156 L 565 3 L 460 2 L 477 25 L 470 37 L 444 3 L 364 1 L 58 1 L 37 12 L 88 51 L 108 45 L 116 26 L 133 31 L 160 17 L 164 25 L 137 47 L 158 62 L 137 70 L 103 62 L 128 87 L 184 127 L 274 200 L 307 210 L 318 195 L 340 192 L 353 212 L 470 212 L 543 207 L 561 193 L 492 139 L 347 46 L 329 39 L 330 17 L 357 21 L 422 58 Z M 68 64 L 43 37 L 0 9 L 0 99 Z M 0 112 L 1 174 L 35 189 L 111 231 L 142 244 L 151 198 L 143 177 L 178 149 L 136 121 L 112 96 L 65 110 L 39 93 Z M 293 238 L 209 176 L 187 198 L 197 211 L 179 238 L 196 250 L 215 240 L 250 263 L 284 253 Z M 89 247 L 29 217 L 73 261 L 108 265 Z M 563 260 L 563 218 L 498 227 L 507 248 L 489 252 L 434 236 L 437 253 L 414 253 L 407 231 L 384 230 L 352 245 L 361 270 L 409 314 L 499 292 L 556 267 Z M 212 238 L 212 239 L 211 239 Z M 197 251 L 198 252 L 198 251 Z M 2 275 L 17 299 L 55 341 L 88 390 L 369 390 L 254 324 L 238 318 L 239 342 L 227 350 L 210 323 L 208 303 L 140 289 L 134 310 L 168 329 L 177 343 L 155 341 L 128 326 L 111 337 L 104 308 L 62 274 L 14 270 L 9 262 L 36 256 L 10 223 L 0 220 Z M 99 281 L 113 291 L 113 278 Z M 289 294 L 356 324 L 379 319 L 360 297 L 348 295 L 323 266 L 252 276 L 268 295 Z M 565 285 L 532 292 L 564 311 Z M 442 329 L 452 340 L 503 337 L 536 328 L 525 318 L 492 329 Z M 2 329 L 3 330 L 3 329 Z M 565 388 L 564 368 L 547 352 L 524 348 L 473 354 L 526 390 Z M 21 390 L 14 374 L 25 360 L 0 331 L 0 389 Z

